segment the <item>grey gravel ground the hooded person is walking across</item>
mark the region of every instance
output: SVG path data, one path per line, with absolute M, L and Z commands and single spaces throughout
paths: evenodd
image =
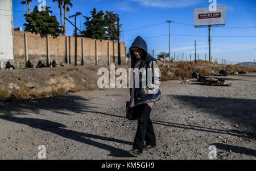
M 215 77 L 216 78 L 216 77 Z M 132 148 L 137 121 L 125 118 L 127 88 L 0 102 L 0 159 L 256 159 L 256 73 L 225 77 L 230 87 L 162 82 L 151 119 L 157 147 Z

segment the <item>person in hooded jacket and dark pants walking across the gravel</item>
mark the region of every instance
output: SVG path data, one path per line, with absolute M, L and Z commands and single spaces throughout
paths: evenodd
M 133 72 L 133 75 L 131 75 L 133 77 L 131 78 L 133 79 L 133 87 L 130 88 L 130 108 L 134 108 L 134 113 L 138 118 L 138 127 L 133 149 L 129 153 L 133 156 L 139 156 L 143 151 L 156 146 L 150 113 L 154 102 L 162 97 L 159 89 L 160 70 L 156 59 L 147 53 L 147 44 L 142 37 L 136 37 L 129 51 L 131 54 L 131 68 L 137 69 L 137 71 L 145 69 L 145 72 L 142 73 Z M 151 82 L 149 82 L 148 78 L 152 78 Z M 143 82 L 145 81 L 146 84 L 144 85 L 146 86 L 143 87 Z

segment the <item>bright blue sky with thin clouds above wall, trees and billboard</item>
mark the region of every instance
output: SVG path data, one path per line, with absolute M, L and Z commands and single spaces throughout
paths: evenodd
M 24 29 L 23 15 L 26 12 L 26 6 L 22 5 L 21 1 L 13 0 L 14 27 Z M 67 15 L 79 11 L 82 15 L 90 16 L 90 11 L 94 7 L 97 11 L 108 10 L 119 14 L 127 48 L 135 37 L 141 36 L 147 42 L 148 52 L 152 54 L 154 50 L 155 55 L 160 52 L 168 53 L 169 24 L 166 20 L 176 22 L 171 23 L 171 56 L 176 53 L 176 58 L 179 58 L 184 53 L 187 59 L 190 54 L 195 57 L 196 40 L 199 57 L 205 59 L 206 53 L 208 58 L 208 28 L 193 27 L 193 8 L 208 7 L 210 5 L 208 0 L 73 0 L 72 3 L 73 7 Z M 39 5 L 38 1 L 32 0 L 31 11 L 35 5 Z M 46 5 L 51 7 L 53 14 L 60 22 L 57 2 L 46 0 Z M 253 61 L 256 59 L 256 1 L 217 0 L 217 6 L 224 5 L 226 6 L 226 25 L 212 28 L 213 61 L 215 58 L 218 58 L 218 62 L 221 62 L 221 59 L 226 59 L 226 62 Z M 77 22 L 80 27 L 80 19 Z M 82 29 L 85 29 L 84 22 L 85 19 L 82 17 Z M 73 26 L 67 23 L 67 35 L 72 33 Z M 123 41 L 122 33 L 120 40 Z

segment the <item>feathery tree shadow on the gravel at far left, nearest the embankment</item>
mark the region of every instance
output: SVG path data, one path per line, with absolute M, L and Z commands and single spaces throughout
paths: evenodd
M 40 110 L 69 115 L 71 112 L 80 113 L 81 110 L 93 110 L 93 103 L 76 95 L 60 95 L 43 99 L 13 100 L 0 102 L 0 113 L 13 116 L 15 114 L 39 113 Z

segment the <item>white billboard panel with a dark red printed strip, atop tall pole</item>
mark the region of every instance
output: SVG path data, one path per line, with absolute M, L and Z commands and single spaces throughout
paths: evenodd
M 195 27 L 224 24 L 226 24 L 226 6 L 219 6 L 216 11 L 209 11 L 209 7 L 194 9 Z

